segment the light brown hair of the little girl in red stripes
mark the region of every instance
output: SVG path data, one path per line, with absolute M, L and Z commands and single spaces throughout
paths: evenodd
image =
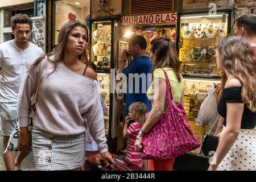
M 133 104 L 131 104 L 129 107 L 131 108 L 132 111 L 135 112 L 135 117 L 137 121 L 141 123 L 141 126 L 143 126 L 144 123 L 146 122 L 146 116 L 145 116 L 145 114 L 147 113 L 146 104 L 142 102 L 133 102 Z

